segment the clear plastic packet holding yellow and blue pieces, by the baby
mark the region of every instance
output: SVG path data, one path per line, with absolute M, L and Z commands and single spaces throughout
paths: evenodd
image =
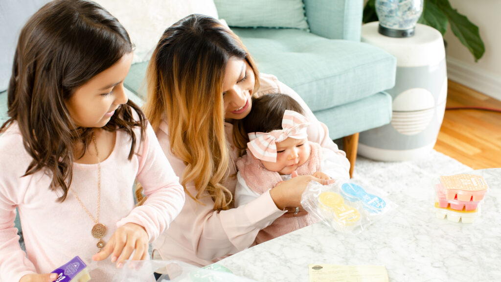
M 310 182 L 301 197 L 308 213 L 337 231 L 358 234 L 396 204 L 369 187 L 353 182 Z

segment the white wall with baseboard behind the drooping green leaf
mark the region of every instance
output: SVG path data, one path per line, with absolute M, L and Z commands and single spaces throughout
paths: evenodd
M 449 29 L 447 72 L 451 80 L 501 100 L 501 24 L 499 0 L 449 0 L 451 6 L 478 26 L 485 45 L 483 57 L 475 63 L 473 56 Z

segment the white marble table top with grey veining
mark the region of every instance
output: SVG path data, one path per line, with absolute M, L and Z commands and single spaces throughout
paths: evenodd
M 471 224 L 438 219 L 433 183 L 389 187 L 398 207 L 358 235 L 317 223 L 248 248 L 218 263 L 257 281 L 308 281 L 315 263 L 384 265 L 390 281 L 501 281 L 501 169 L 481 175 L 489 190 Z

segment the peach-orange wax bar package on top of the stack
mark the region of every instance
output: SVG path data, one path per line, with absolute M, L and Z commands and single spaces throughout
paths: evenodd
M 447 200 L 463 202 L 482 200 L 488 188 L 483 177 L 472 174 L 440 176 L 440 183 L 445 188 Z

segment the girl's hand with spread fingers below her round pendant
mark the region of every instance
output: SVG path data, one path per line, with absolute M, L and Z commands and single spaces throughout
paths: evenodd
M 132 260 L 143 260 L 148 257 L 148 234 L 141 225 L 129 222 L 118 228 L 106 246 L 93 255 L 92 259 L 103 260 L 111 254 L 111 262 L 118 260 L 117 267 L 120 268 L 132 252 L 134 252 Z

